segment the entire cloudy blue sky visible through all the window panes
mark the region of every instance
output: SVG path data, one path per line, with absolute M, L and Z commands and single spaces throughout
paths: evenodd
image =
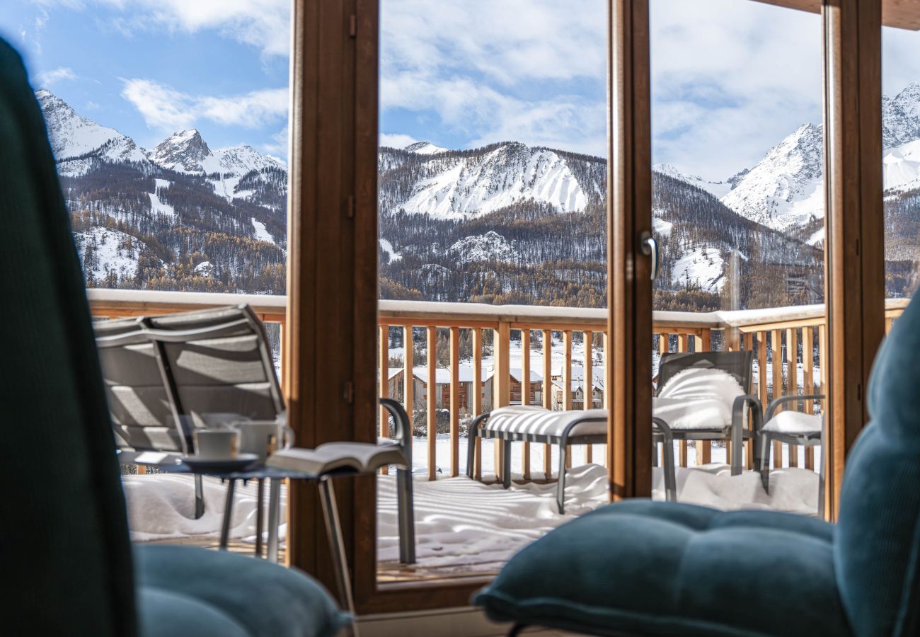
M 3 0 L 36 87 L 150 147 L 286 156 L 290 0 Z M 381 0 L 381 143 L 504 140 L 606 153 L 605 0 Z M 651 0 L 655 162 L 709 180 L 821 122 L 821 21 L 741 0 Z M 920 79 L 888 32 L 885 90 Z

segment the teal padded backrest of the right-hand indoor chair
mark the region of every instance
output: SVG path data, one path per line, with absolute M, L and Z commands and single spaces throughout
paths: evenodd
M 846 460 L 834 568 L 858 635 L 920 631 L 920 301 L 882 345 Z

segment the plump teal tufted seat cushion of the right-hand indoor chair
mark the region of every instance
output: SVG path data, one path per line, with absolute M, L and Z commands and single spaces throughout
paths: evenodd
M 600 635 L 846 635 L 833 535 L 798 515 L 632 500 L 521 550 L 474 603 Z

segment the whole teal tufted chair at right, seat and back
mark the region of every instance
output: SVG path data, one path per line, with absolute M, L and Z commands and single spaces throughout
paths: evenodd
M 517 553 L 474 598 L 493 620 L 595 635 L 920 631 L 920 300 L 882 345 L 836 525 L 630 500 Z M 565 585 L 559 585 L 564 582 Z

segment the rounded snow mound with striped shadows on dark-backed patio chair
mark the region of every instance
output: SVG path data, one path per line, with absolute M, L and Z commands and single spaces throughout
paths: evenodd
M 728 372 L 691 367 L 674 375 L 652 399 L 652 414 L 672 429 L 725 429 L 744 390 Z

